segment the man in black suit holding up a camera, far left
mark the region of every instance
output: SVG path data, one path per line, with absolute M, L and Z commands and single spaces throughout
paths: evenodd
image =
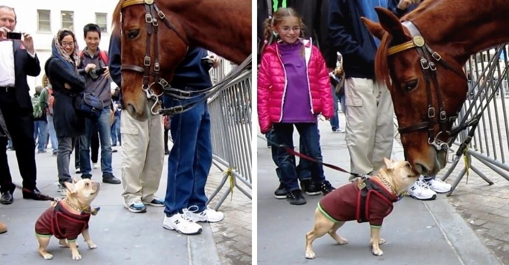
M 26 76 L 41 72 L 32 36 L 23 33 L 22 40 L 7 39 L 16 26 L 14 9 L 0 6 L 0 110 L 16 149 L 19 172 L 23 178 L 23 198 L 45 200 L 36 187 L 34 116 Z M 0 152 L 5 153 L 4 144 Z M 0 162 L 0 203 L 11 204 L 14 184 L 9 167 Z

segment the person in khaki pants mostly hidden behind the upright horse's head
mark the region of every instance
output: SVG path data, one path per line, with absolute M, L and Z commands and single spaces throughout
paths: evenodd
M 120 48 L 120 38 L 111 36 L 109 71 L 117 86 L 122 87 Z M 122 102 L 122 93 L 119 101 Z M 149 114 L 148 120 L 138 121 L 123 111 L 120 116 L 120 134 L 124 207 L 132 213 L 145 213 L 145 205 L 164 206 L 164 200 L 154 196 L 159 189 L 164 160 L 162 117 Z

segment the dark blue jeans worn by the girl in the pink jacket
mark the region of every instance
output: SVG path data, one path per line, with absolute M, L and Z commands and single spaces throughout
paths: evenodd
M 293 149 L 293 126 L 299 131 L 301 139 L 301 149 L 305 148 L 308 156 L 314 157 L 318 161 L 322 161 L 322 152 L 320 149 L 320 135 L 318 134 L 318 124 L 309 123 L 274 123 L 274 131 L 278 144 L 285 145 Z M 287 192 L 298 190 L 299 183 L 297 181 L 297 169 L 295 167 L 295 156 L 288 153 L 285 149 L 277 150 L 277 165 L 281 172 L 281 182 L 284 184 Z M 323 165 L 320 163 L 311 163 L 310 172 L 316 183 L 325 180 L 323 174 Z M 305 178 L 303 178 L 305 179 Z

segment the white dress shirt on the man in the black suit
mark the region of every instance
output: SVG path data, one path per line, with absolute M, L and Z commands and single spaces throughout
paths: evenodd
M 27 52 L 32 58 L 34 54 Z M 14 87 L 14 48 L 12 40 L 0 41 L 0 87 Z

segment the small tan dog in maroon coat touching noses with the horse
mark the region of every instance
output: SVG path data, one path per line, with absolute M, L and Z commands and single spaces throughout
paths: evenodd
M 370 222 L 372 252 L 377 256 L 383 255 L 379 246 L 385 243 L 380 238 L 383 218 L 390 214 L 392 203 L 398 201 L 399 195 L 419 177 L 406 161 L 391 162 L 385 157 L 383 160 L 385 166 L 377 176 L 357 178 L 320 201 L 315 211 L 315 227 L 306 234 L 306 258 L 315 258 L 313 241 L 326 233 L 338 244 L 347 244 L 348 241 L 336 234 L 336 230 L 351 220 Z

